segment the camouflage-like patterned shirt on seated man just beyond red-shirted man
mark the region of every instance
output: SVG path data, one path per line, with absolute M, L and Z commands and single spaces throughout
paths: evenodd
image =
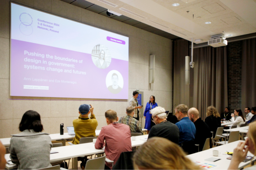
M 142 133 L 142 129 L 140 126 L 140 122 L 134 119 L 130 115 L 126 115 L 120 118 L 118 123 L 123 123 L 126 124 L 130 127 L 130 132 L 131 133 Z M 142 133 L 143 135 L 143 133 Z

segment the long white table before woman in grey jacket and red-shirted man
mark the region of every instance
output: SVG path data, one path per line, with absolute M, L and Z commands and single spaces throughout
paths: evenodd
M 148 137 L 148 135 L 136 136 L 136 140 L 131 140 L 132 147 L 137 147 L 144 144 L 146 141 L 140 140 L 140 138 L 146 138 L 146 137 Z M 85 144 L 74 144 L 74 145 L 69 145 L 65 147 L 54 147 L 51 149 L 51 151 L 57 151 L 59 153 L 50 154 L 50 162 L 54 163 L 57 161 L 74 158 L 74 160 L 72 161 L 72 169 L 77 170 L 78 168 L 77 157 L 104 153 L 104 148 L 95 149 L 94 145 L 95 145 L 94 143 L 90 142 Z M 5 154 L 6 161 L 10 160 L 9 155 L 10 154 Z M 11 170 L 11 169 L 17 168 L 17 166 L 6 164 L 5 168 L 8 170 Z

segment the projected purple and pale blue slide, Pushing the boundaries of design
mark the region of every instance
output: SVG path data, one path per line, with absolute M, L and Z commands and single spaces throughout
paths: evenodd
M 12 96 L 128 99 L 128 37 L 11 6 Z

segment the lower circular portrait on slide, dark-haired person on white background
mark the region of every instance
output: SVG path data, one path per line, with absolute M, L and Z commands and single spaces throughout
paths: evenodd
M 123 89 L 123 76 L 119 71 L 111 70 L 106 77 L 107 89 L 113 93 L 117 94 Z

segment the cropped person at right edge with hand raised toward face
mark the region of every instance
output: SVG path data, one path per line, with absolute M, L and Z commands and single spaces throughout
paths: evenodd
M 239 142 L 237 147 L 234 149 L 228 170 L 237 170 L 239 164 L 244 161 L 245 157 L 247 157 L 248 151 L 256 156 L 256 122 L 250 123 L 247 135 L 247 140 Z M 247 148 L 245 148 L 245 145 L 247 145 Z M 255 169 L 256 165 L 245 168 L 244 170 Z

